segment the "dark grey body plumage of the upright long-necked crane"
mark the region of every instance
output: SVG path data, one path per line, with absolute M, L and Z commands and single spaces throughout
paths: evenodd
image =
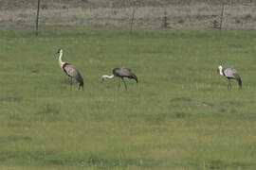
M 71 77 L 71 83 L 72 83 L 72 78 L 74 77 L 80 83 L 79 89 L 83 88 L 83 78 L 75 65 L 65 62 L 63 66 L 63 70 L 67 76 Z

